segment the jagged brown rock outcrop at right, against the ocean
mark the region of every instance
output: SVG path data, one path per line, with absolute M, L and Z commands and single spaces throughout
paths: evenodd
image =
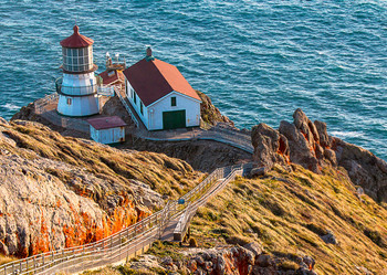
M 326 124 L 301 110 L 294 121 L 281 121 L 278 130 L 265 124 L 252 128 L 253 159 L 269 169 L 289 161 L 321 173 L 323 167 L 344 167 L 352 181 L 377 201 L 387 201 L 387 162 L 374 154 L 327 134 Z M 287 166 L 289 167 L 289 166 Z

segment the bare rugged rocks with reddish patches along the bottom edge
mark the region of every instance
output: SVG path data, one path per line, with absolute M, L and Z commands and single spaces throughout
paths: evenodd
M 262 250 L 251 250 L 250 245 L 200 250 L 186 257 L 181 255 L 180 260 L 176 261 L 170 256 L 159 258 L 144 255 L 138 261 L 132 262 L 128 267 L 134 271 L 149 271 L 156 267 L 169 274 L 315 275 L 314 265 L 315 261 L 310 256 L 296 256 L 289 260 L 266 254 Z

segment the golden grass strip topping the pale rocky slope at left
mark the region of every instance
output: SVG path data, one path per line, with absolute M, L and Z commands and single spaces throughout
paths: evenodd
M 29 159 L 35 158 L 33 154 L 35 152 L 43 158 L 84 168 L 98 178 L 118 182 L 127 188 L 130 188 L 130 180 L 138 180 L 170 199 L 186 193 L 203 178 L 202 173 L 196 172 L 187 162 L 164 154 L 118 150 L 88 140 L 63 137 L 39 124 L 11 123 L 11 126 L 2 127 L 0 130 L 19 147 L 9 147 L 12 152 Z M 46 172 L 64 182 L 71 181 L 74 177 L 71 172 L 53 168 L 46 168 Z M 102 198 L 104 194 L 98 197 Z

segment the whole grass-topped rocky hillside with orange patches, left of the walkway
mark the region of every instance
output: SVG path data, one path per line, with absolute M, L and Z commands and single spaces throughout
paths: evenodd
M 107 236 L 202 177 L 161 154 L 117 150 L 23 120 L 0 120 L 0 253 L 18 256 Z

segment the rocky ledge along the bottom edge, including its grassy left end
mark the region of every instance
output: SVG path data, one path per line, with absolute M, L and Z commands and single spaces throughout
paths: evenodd
M 164 253 L 157 253 L 160 248 Z M 171 244 L 156 243 L 150 253 L 126 266 L 105 267 L 93 274 L 316 274 L 313 272 L 315 262 L 312 257 L 297 256 L 291 262 L 265 253 L 257 243 L 223 248 L 177 248 Z M 164 256 L 168 253 L 168 256 Z

